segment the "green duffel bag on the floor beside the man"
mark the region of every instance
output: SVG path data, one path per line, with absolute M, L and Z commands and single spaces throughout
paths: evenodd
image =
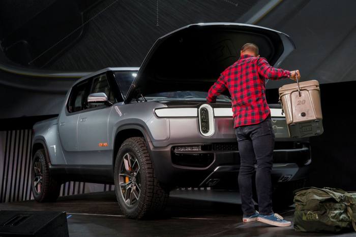
M 302 188 L 294 191 L 294 204 L 296 231 L 356 231 L 356 193 L 336 188 Z

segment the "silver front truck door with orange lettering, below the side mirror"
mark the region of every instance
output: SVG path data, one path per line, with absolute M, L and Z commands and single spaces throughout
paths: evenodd
M 88 94 L 99 92 L 105 93 L 111 103 L 116 102 L 106 74 L 93 78 Z M 87 110 L 79 114 L 78 151 L 82 157 L 81 164 L 112 164 L 113 144 L 108 137 L 108 119 L 112 108 L 104 104 L 88 104 Z

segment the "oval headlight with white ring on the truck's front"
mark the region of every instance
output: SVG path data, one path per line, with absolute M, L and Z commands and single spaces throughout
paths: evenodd
M 206 114 L 207 112 L 207 114 Z M 205 137 L 210 137 L 214 134 L 215 132 L 215 123 L 214 123 L 214 110 L 213 107 L 211 107 L 208 104 L 204 104 L 199 107 L 198 110 L 198 115 L 199 115 L 199 130 L 200 133 L 205 136 Z M 206 116 L 206 117 L 204 117 Z M 207 123 L 207 124 L 203 124 Z M 203 130 L 202 128 L 208 128 Z

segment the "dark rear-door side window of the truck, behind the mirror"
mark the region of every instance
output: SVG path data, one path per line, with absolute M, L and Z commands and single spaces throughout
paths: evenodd
M 69 113 L 77 112 L 86 109 L 86 88 L 87 81 L 75 85 L 69 96 L 67 109 Z

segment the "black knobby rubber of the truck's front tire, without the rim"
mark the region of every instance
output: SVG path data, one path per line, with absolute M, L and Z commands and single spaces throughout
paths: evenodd
M 128 152 L 136 156 L 141 172 L 140 195 L 133 207 L 129 207 L 125 203 L 118 178 L 124 155 Z M 128 218 L 139 220 L 159 216 L 167 204 L 169 190 L 158 182 L 146 142 L 141 137 L 129 138 L 121 145 L 115 159 L 114 182 L 119 207 Z

